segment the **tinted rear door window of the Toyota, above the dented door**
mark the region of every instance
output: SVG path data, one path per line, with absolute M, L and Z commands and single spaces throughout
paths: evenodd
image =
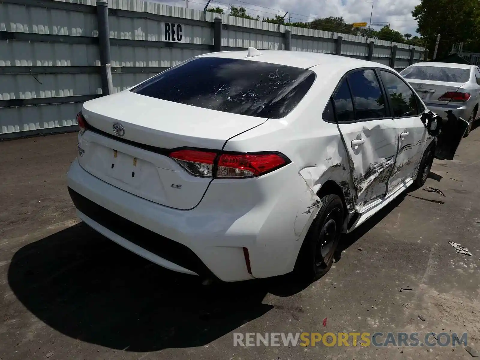
M 385 99 L 373 70 L 361 70 L 348 75 L 357 120 L 386 117 Z

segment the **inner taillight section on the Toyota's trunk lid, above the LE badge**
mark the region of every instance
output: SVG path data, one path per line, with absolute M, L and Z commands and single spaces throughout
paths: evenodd
M 213 163 L 216 153 L 199 150 L 178 150 L 170 153 L 185 170 L 195 176 L 213 176 Z

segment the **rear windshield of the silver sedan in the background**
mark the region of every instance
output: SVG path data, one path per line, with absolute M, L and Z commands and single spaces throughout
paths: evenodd
M 400 72 L 405 79 L 466 83 L 470 79 L 470 69 L 457 69 L 438 66 L 409 66 Z

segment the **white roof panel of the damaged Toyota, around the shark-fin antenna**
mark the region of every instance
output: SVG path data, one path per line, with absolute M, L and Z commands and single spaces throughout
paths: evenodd
M 336 69 L 378 67 L 390 69 L 388 66 L 378 62 L 349 58 L 346 56 L 337 56 L 331 54 L 322 54 L 308 51 L 285 51 L 285 50 L 257 50 L 261 55 L 247 57 L 249 50 L 240 51 L 221 51 L 211 52 L 199 55 L 200 57 L 243 59 L 251 61 L 269 62 L 273 64 L 294 66 L 297 68 L 308 69 L 316 65 L 327 65 Z

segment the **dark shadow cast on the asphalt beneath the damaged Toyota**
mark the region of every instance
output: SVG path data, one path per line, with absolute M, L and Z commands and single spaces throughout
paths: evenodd
M 344 236 L 344 250 L 381 221 L 400 195 Z M 79 223 L 25 245 L 8 282 L 36 317 L 74 339 L 114 349 L 155 351 L 203 346 L 273 306 L 267 293 L 291 296 L 309 284 L 292 274 L 204 286 L 163 269 Z

